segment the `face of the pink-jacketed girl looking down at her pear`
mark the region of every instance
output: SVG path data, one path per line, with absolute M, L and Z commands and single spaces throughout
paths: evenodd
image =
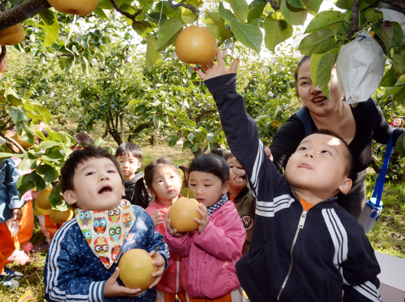
M 214 174 L 193 171 L 190 173 L 190 188 L 194 198 L 208 208 L 228 192 L 229 181 L 222 183 L 221 179 Z

